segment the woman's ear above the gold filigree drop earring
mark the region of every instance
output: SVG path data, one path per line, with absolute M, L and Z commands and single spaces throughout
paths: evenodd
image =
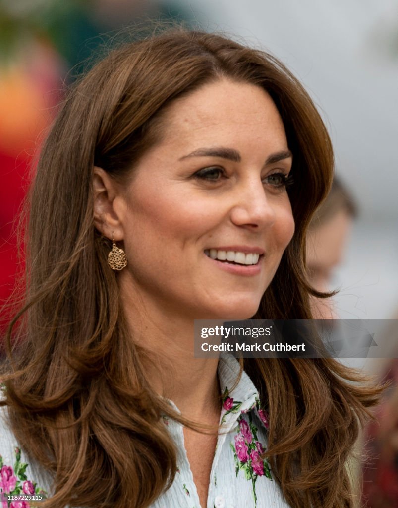
M 94 226 L 110 240 L 123 239 L 123 200 L 119 185 L 102 168 L 94 166 L 93 174 Z

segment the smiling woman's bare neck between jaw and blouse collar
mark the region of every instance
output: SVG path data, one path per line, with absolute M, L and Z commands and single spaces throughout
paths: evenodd
M 148 354 L 143 363 L 152 389 L 184 417 L 213 423 L 221 407 L 218 358 L 193 357 L 193 320 L 151 301 L 123 302 L 131 337 Z

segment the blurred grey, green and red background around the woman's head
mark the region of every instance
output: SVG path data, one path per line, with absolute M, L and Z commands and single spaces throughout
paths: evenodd
M 100 48 L 123 37 L 121 28 L 139 26 L 142 34 L 149 20 L 243 38 L 303 82 L 328 126 L 336 172 L 356 210 L 328 267 L 329 288 L 340 288 L 335 315 L 398 317 L 397 0 L 0 0 L 0 305 L 23 268 L 16 216 L 65 89 Z M 391 351 L 397 338 L 387 338 Z M 384 375 L 385 366 L 378 369 Z M 397 486 L 398 476 L 386 478 Z

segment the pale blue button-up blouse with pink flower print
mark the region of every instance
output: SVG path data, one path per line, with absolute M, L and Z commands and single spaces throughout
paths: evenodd
M 289 508 L 270 465 L 260 458 L 267 448 L 268 414 L 260 406 L 258 392 L 245 372 L 230 390 L 238 372 L 234 357 L 220 358 L 223 407 L 206 508 Z M 168 418 L 164 424 L 177 446 L 178 469 L 173 485 L 151 508 L 205 508 L 193 483 L 183 427 Z M 7 407 L 0 408 L 0 508 L 29 508 L 29 499 L 44 499 L 48 493 L 49 474 L 20 450 L 7 425 Z

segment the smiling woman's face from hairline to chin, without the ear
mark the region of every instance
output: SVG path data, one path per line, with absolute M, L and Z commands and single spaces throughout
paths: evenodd
M 170 105 L 115 202 L 123 295 L 192 319 L 247 319 L 289 243 L 284 126 L 269 95 L 219 80 Z

